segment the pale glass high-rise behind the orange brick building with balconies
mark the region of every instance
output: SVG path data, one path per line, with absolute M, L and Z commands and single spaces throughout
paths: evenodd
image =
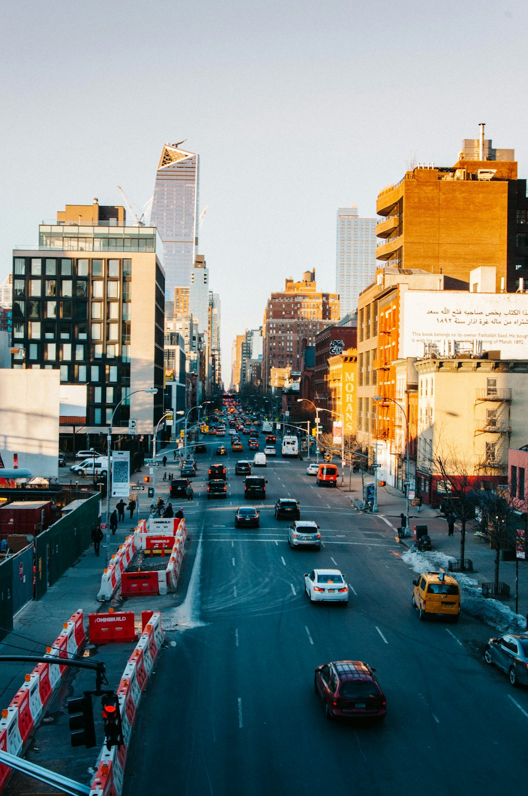
M 376 219 L 358 216 L 355 205 L 337 211 L 336 291 L 341 318 L 355 313 L 358 296 L 370 285 L 376 268 Z

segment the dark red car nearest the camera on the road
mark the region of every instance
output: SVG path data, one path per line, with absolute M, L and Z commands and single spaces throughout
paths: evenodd
M 363 661 L 333 661 L 317 666 L 313 689 L 324 704 L 327 719 L 383 719 L 386 696 L 375 669 Z

